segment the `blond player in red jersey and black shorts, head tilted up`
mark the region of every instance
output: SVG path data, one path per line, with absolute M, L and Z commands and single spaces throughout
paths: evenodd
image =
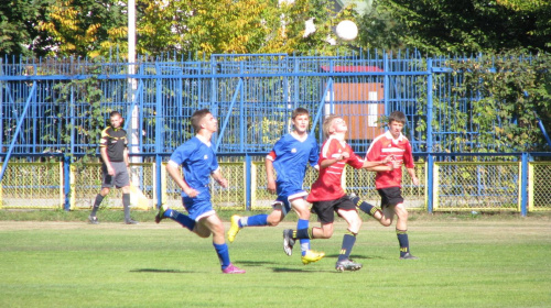
M 346 122 L 337 116 L 328 116 L 323 121 L 323 134 L 327 139 L 320 154 L 320 175 L 312 185 L 307 201 L 313 204 L 313 210 L 322 223 L 322 228 L 283 230 L 283 245 L 292 248 L 296 239 L 329 239 L 333 235 L 335 212 L 348 224 L 344 234 L 341 253 L 335 264 L 337 271 L 357 271 L 360 263 L 349 258 L 356 243 L 356 235 L 361 227 L 355 204 L 345 194 L 341 186 L 343 170 L 348 164 L 354 168 L 369 170 L 390 170 L 392 165 L 386 166 L 391 156 L 380 162 L 367 162 L 359 158 L 345 141 L 348 131 Z

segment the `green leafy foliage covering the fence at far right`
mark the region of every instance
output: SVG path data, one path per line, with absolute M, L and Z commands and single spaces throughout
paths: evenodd
M 474 152 L 549 151 L 538 125 L 541 119 L 551 129 L 551 56 L 531 58 L 506 52 L 478 59 L 453 61 L 454 75 L 464 81 L 453 88 L 458 99 L 478 98 L 454 117 L 466 119 L 478 132 Z M 466 113 L 468 112 L 468 114 Z M 452 131 L 465 131 L 462 122 Z M 464 124 L 465 122 L 463 122 Z M 460 142 L 465 143 L 467 140 Z

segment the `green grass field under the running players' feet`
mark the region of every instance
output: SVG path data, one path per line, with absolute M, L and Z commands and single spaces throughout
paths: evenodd
M 223 275 L 210 239 L 169 220 L 2 220 L 0 307 L 551 307 L 549 218 L 415 219 L 417 261 L 398 258 L 393 227 L 367 220 L 352 255 L 364 268 L 345 273 L 344 223 L 304 266 L 282 250 L 292 221 L 242 230 L 229 248 L 247 274 Z

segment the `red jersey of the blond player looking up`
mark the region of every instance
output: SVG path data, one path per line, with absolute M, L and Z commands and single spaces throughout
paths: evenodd
M 341 157 L 341 153 L 344 152 L 348 152 L 348 158 L 338 161 L 326 168 L 321 167 L 323 161 L 338 158 Z M 364 166 L 364 160 L 354 154 L 354 151 L 345 141 L 329 136 L 322 146 L 322 153 L 320 153 L 320 160 L 317 161 L 320 175 L 312 185 L 306 200 L 312 204 L 315 201 L 336 200 L 345 196 L 346 194 L 341 185 L 341 177 L 346 164 L 354 168 L 360 168 Z

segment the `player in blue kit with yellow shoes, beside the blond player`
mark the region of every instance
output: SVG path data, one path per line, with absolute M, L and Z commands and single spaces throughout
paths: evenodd
M 314 168 L 318 168 L 318 146 L 315 138 L 307 133 L 309 111 L 304 108 L 296 108 L 291 118 L 294 131 L 276 142 L 272 151 L 266 156 L 268 190 L 271 194 L 278 194 L 278 198 L 272 204 L 273 211 L 270 215 L 261 213 L 251 217 L 233 216 L 231 227 L 228 230 L 230 243 L 245 227 L 278 226 L 291 208 L 299 215 L 298 229 L 309 228 L 310 204 L 305 200 L 307 193 L 302 188 L 302 183 L 309 163 Z M 273 178 L 273 169 L 277 172 L 277 179 Z M 303 264 L 320 261 L 325 255 L 323 252 L 310 249 L 310 239 L 301 239 L 301 250 Z M 285 249 L 285 253 L 291 255 L 292 248 Z

